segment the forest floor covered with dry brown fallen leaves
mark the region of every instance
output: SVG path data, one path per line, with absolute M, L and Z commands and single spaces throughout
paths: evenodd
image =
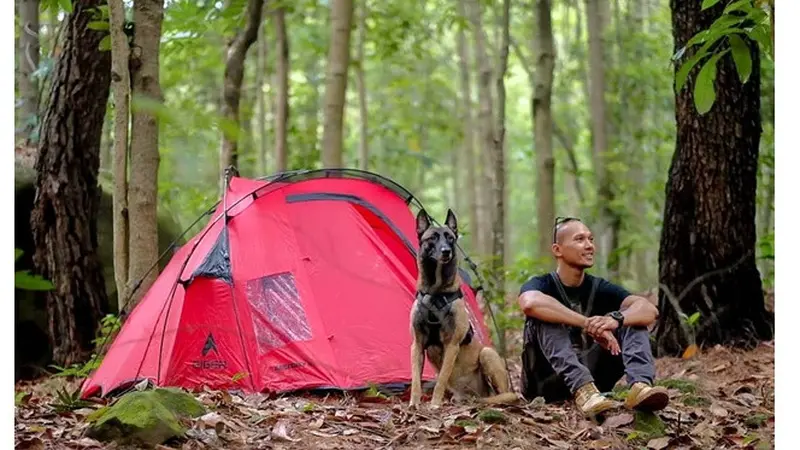
M 598 426 L 572 403 L 534 401 L 488 412 L 448 403 L 412 413 L 407 394 L 268 398 L 202 392 L 197 397 L 212 412 L 186 424 L 186 439 L 158 448 L 774 448 L 774 342 L 751 351 L 715 347 L 688 360 L 661 358 L 657 367 L 672 399 L 657 414 L 663 426 L 643 428 L 646 417 L 634 418 L 623 408 Z M 518 366 L 511 370 L 519 373 Z M 93 407 L 54 408 L 65 383 L 77 386 L 64 378 L 16 386 L 16 448 L 120 448 L 84 437 L 83 418 Z

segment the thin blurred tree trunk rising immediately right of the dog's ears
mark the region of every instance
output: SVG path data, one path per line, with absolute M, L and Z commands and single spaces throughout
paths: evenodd
M 464 7 L 465 1 L 466 0 L 456 0 L 458 14 L 461 17 L 467 16 Z M 469 205 L 469 219 L 467 223 L 472 231 L 472 248 L 482 249 L 482 236 L 480 233 L 480 226 L 478 225 L 477 199 L 480 195 L 480 191 L 475 177 L 475 118 L 472 111 L 472 80 L 469 73 L 469 46 L 467 45 L 466 35 L 462 27 L 458 27 L 456 39 L 458 45 L 458 70 L 461 75 L 461 121 L 463 124 L 461 148 L 464 155 L 464 166 L 466 166 L 467 172 L 466 196 Z

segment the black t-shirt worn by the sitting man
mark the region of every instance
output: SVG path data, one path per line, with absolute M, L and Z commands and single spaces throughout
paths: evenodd
M 586 311 L 589 302 L 589 295 L 592 291 L 592 283 L 594 283 L 595 278 L 599 279 L 599 283 L 597 285 L 597 290 L 594 293 L 592 310 Z M 562 304 L 565 304 L 567 307 L 570 307 L 569 304 L 575 305 L 578 301 L 580 301 L 579 312 L 586 317 L 603 316 L 611 311 L 617 311 L 622 305 L 622 301 L 625 300 L 627 296 L 631 295 L 627 289 L 611 283 L 604 278 L 589 275 L 588 273 L 584 274 L 583 283 L 581 283 L 580 286 L 567 286 L 563 283 L 562 286 L 564 286 L 564 292 L 567 294 L 569 299 L 561 298 L 561 294 L 559 293 L 553 277 L 549 273 L 546 273 L 544 275 L 531 277 L 525 282 L 525 284 L 522 285 L 519 293 L 522 295 L 522 293 L 527 291 L 539 291 L 555 298 Z M 573 307 L 573 309 L 576 308 Z

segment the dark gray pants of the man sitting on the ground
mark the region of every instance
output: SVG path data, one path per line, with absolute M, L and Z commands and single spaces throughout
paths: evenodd
M 595 342 L 581 351 L 572 346 L 570 327 L 528 319 L 522 364 L 525 397 L 542 396 L 548 402 L 566 400 L 589 382 L 607 392 L 623 374 L 629 384 L 652 384 L 655 363 L 647 329 L 622 327 L 614 334 L 621 355 L 614 356 Z

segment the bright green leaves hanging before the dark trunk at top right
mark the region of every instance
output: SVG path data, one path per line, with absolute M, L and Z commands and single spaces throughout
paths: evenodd
M 701 8 L 706 10 L 720 0 L 704 0 Z M 770 15 L 772 2 L 765 0 L 732 1 L 708 29 L 694 35 L 684 47 L 673 56 L 678 61 L 689 48 L 700 48 L 689 57 L 675 74 L 675 89 L 680 91 L 686 85 L 689 72 L 701 61 L 705 61 L 694 84 L 694 104 L 697 112 L 706 114 L 714 106 L 716 91 L 714 80 L 717 77 L 717 62 L 731 53 L 739 80 L 744 84 L 750 79 L 753 61 L 748 41 L 756 42 L 760 50 L 770 57 L 772 53 Z

